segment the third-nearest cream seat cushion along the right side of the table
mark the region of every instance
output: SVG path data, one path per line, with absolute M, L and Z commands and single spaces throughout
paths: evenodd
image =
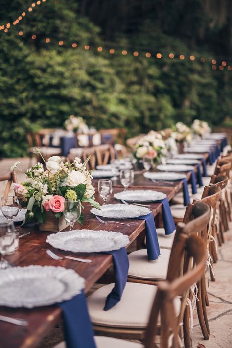
M 128 255 L 128 276 L 140 279 L 166 279 L 170 250 L 161 249 L 157 260 L 148 261 L 147 250 L 141 249 Z

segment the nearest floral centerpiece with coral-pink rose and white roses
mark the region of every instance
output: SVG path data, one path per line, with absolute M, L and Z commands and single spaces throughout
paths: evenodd
M 35 153 L 43 158 L 39 148 L 35 150 Z M 49 210 L 55 214 L 55 217 L 62 217 L 66 199 L 89 202 L 93 207 L 100 209 L 94 198 L 93 177 L 86 169 L 88 161 L 89 157 L 84 163 L 76 157 L 72 164 L 68 164 L 68 162 L 63 163 L 59 156 L 52 156 L 47 162 L 45 161 L 47 170 L 44 170 L 40 162 L 26 172 L 18 168 L 27 177 L 21 184 L 13 186 L 22 207 L 27 209 L 25 222 L 35 220 L 45 223 L 46 211 Z M 15 162 L 11 170 L 19 164 L 20 162 Z M 83 219 L 81 214 L 78 221 L 83 223 Z

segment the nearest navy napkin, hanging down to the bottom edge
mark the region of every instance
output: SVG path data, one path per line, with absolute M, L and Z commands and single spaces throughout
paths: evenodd
M 58 306 L 63 311 L 67 348 L 96 348 L 84 291 Z

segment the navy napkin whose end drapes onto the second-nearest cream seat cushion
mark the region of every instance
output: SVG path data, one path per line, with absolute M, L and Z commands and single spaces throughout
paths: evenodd
M 154 219 L 153 219 L 154 220 Z M 125 248 L 105 252 L 113 256 L 113 267 L 115 272 L 115 286 L 106 298 L 104 310 L 114 307 L 121 300 L 122 292 L 126 285 L 129 260 Z

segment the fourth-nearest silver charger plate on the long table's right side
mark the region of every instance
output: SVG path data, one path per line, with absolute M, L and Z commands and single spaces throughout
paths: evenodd
M 114 197 L 128 202 L 154 202 L 166 198 L 167 195 L 152 190 L 129 190 L 115 193 Z

